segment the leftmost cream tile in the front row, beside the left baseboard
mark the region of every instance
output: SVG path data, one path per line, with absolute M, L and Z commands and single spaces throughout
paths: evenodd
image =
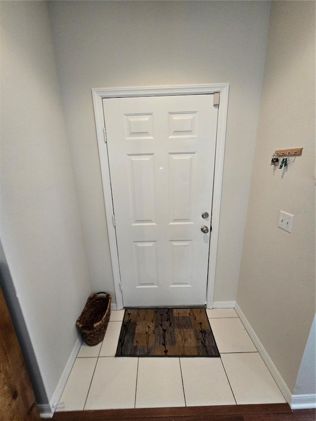
M 82 411 L 97 358 L 77 358 L 59 400 L 57 411 Z

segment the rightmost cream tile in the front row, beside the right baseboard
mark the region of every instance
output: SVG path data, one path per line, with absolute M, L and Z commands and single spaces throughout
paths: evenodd
M 259 353 L 223 354 L 222 361 L 238 405 L 285 402 Z

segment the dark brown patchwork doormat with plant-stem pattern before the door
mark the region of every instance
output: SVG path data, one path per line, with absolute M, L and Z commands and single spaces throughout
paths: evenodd
M 116 357 L 219 357 L 205 308 L 127 308 Z

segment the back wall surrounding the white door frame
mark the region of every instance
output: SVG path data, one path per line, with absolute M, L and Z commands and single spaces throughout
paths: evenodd
M 229 82 L 215 301 L 235 300 L 270 2 L 52 1 L 49 7 L 93 289 L 114 297 L 91 88 Z

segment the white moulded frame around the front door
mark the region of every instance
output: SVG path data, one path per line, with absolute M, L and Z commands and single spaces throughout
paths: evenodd
M 117 309 L 123 308 L 123 299 L 120 290 L 120 274 L 118 264 L 118 247 L 116 232 L 113 224 L 114 209 L 112 202 L 110 168 L 108 159 L 108 149 L 105 142 L 103 98 L 126 98 L 143 96 L 168 96 L 168 95 L 198 95 L 220 93 L 220 106 L 218 109 L 216 152 L 214 166 L 214 187 L 212 200 L 212 232 L 210 237 L 210 252 L 208 259 L 208 276 L 206 303 L 208 308 L 213 307 L 215 270 L 218 243 L 218 230 L 220 220 L 220 206 L 222 195 L 222 180 L 224 168 L 224 152 L 226 140 L 226 123 L 228 112 L 229 83 L 212 83 L 197 85 L 166 85 L 166 86 L 146 86 L 146 87 L 120 87 L 120 88 L 92 88 L 92 100 L 96 125 L 96 134 L 99 148 L 101 177 L 103 184 L 104 204 L 108 225 L 111 261 L 113 268 L 114 288 L 116 295 Z

